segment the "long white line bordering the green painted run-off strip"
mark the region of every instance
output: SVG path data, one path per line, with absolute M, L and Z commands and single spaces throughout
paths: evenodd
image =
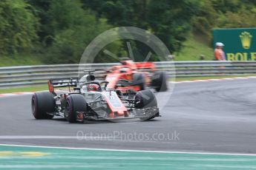
M 111 151 L 111 152 L 146 152 L 146 153 L 166 153 L 166 154 L 213 154 L 213 155 L 234 155 L 234 156 L 256 156 L 256 154 L 224 153 L 224 152 L 196 152 L 196 151 L 195 152 L 175 152 L 175 151 L 172 152 L 172 151 L 136 150 L 136 149 L 95 149 L 95 148 L 60 147 L 60 146 L 13 145 L 13 144 L 0 144 L 0 146 L 30 147 L 30 148 L 42 148 L 42 149 L 71 149 L 71 150 Z

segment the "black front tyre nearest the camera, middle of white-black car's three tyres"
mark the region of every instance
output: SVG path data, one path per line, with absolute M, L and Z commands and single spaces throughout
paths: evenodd
M 76 123 L 76 112 L 86 112 L 87 104 L 85 101 L 85 97 L 79 94 L 72 94 L 68 96 L 66 103 L 66 115 L 65 118 L 69 123 Z

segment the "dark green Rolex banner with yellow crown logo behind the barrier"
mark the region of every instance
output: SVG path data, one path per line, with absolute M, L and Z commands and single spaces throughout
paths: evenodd
M 222 42 L 228 61 L 256 61 L 256 28 L 213 30 L 214 47 Z

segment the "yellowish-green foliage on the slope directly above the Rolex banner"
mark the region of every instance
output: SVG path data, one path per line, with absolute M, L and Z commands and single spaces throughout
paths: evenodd
M 206 35 L 211 43 L 213 28 L 256 27 L 256 1 L 202 0 L 197 14 L 192 19 L 193 30 Z

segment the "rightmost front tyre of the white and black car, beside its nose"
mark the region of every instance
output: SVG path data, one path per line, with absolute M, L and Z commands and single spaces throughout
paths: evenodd
M 149 89 L 137 92 L 137 94 L 135 95 L 135 108 L 146 109 L 148 107 L 157 107 L 157 98 L 154 93 L 151 92 L 151 90 Z M 142 118 L 142 120 L 150 120 L 158 115 L 159 113 L 151 116 L 150 118 Z

